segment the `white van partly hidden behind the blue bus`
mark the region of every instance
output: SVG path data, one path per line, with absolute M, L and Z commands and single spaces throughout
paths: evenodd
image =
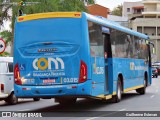
M 33 99 L 40 100 L 40 98 Z M 8 104 L 18 102 L 18 98 L 14 95 L 13 57 L 0 57 L 0 100 Z

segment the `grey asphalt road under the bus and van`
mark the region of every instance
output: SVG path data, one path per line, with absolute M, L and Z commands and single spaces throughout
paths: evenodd
M 123 95 L 122 101 L 120 103 L 111 103 L 110 101 L 101 102 L 98 100 L 78 99 L 77 103 L 74 106 L 61 106 L 58 103 L 55 103 L 54 99 L 41 99 L 38 102 L 34 102 L 32 99 L 20 99 L 17 105 L 7 105 L 4 101 L 0 101 L 0 111 L 32 111 L 35 113 L 47 112 L 45 114 L 46 116 L 56 116 L 54 117 L 54 119 L 58 120 L 75 120 L 75 118 L 76 120 L 158 120 L 160 119 L 160 117 L 134 117 L 134 115 L 132 114 L 131 117 L 120 117 L 121 115 L 130 115 L 130 113 L 141 114 L 141 112 L 144 113 L 143 111 L 148 111 L 146 113 L 150 113 L 152 115 L 155 115 L 157 113 L 160 114 L 160 76 L 159 78 L 153 78 L 152 81 L 153 83 L 151 86 L 147 88 L 147 93 L 145 95 L 139 95 L 135 91 L 131 91 Z M 47 119 L 52 118 L 47 117 Z

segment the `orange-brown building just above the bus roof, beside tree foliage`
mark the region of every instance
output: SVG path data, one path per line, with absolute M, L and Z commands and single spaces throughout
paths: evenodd
M 107 18 L 107 15 L 109 13 L 109 8 L 103 7 L 98 4 L 88 5 L 87 9 L 90 14 L 96 15 L 96 16 L 102 16 Z

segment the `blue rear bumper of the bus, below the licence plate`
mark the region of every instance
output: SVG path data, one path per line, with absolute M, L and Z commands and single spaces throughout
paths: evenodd
M 80 84 L 48 85 L 48 86 L 21 86 L 15 85 L 15 95 L 19 98 L 30 97 L 60 97 L 60 96 L 88 96 L 91 95 L 91 81 Z

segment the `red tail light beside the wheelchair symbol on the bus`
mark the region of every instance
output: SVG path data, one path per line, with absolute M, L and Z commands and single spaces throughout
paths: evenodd
M 15 80 L 15 84 L 22 85 L 18 63 L 14 67 L 14 80 Z

